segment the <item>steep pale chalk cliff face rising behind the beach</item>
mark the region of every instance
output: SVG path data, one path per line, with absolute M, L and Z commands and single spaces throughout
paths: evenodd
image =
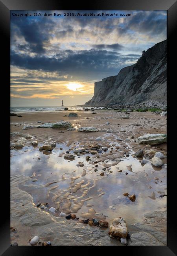
M 147 100 L 167 100 L 167 40 L 143 51 L 136 64 L 121 69 L 117 76 L 96 82 L 94 96 L 85 106 Z

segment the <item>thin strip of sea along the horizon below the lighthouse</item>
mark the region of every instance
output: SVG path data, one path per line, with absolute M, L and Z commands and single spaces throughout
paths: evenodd
M 65 108 L 68 108 L 70 111 L 74 110 L 83 110 L 83 106 L 65 106 L 65 107 L 10 107 L 10 113 L 40 113 L 40 112 L 58 112 L 64 111 Z M 86 107 L 90 109 L 91 107 Z M 99 107 L 101 109 L 103 107 Z

